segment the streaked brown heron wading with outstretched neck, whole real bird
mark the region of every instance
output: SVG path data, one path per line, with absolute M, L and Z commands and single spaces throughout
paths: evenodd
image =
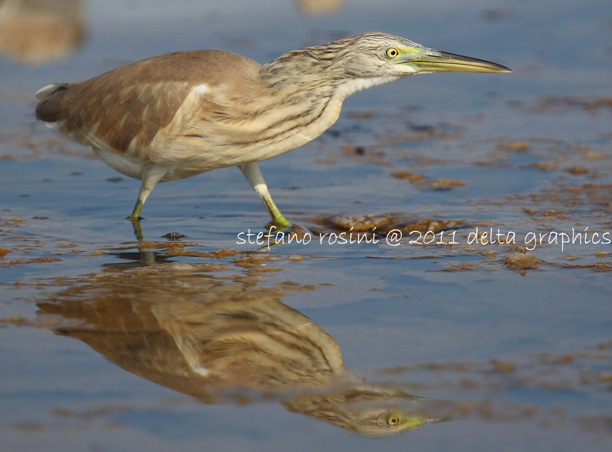
M 141 179 L 134 222 L 158 182 L 237 165 L 272 220 L 285 226 L 259 160 L 318 137 L 356 91 L 449 70 L 510 69 L 371 32 L 289 51 L 264 66 L 221 50 L 155 56 L 80 83 L 41 88 L 36 116 Z

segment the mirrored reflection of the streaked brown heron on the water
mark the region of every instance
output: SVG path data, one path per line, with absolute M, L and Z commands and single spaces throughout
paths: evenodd
M 368 436 L 445 416 L 427 406 L 432 401 L 346 371 L 334 339 L 274 298 L 197 303 L 173 294 L 148 303 L 142 300 L 157 290 L 126 296 L 124 284 L 115 281 L 86 287 L 39 303 L 43 312 L 68 321 L 58 334 L 203 402 L 274 399 L 292 412 Z M 75 326 L 75 320 L 83 323 Z

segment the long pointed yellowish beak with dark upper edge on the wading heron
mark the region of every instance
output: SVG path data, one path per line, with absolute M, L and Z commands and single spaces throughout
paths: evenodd
M 416 58 L 406 61 L 416 67 L 417 72 L 447 72 L 459 70 L 463 72 L 512 72 L 512 69 L 501 64 L 469 56 L 455 55 L 429 48 L 421 49 Z M 414 54 L 413 54 L 414 55 Z

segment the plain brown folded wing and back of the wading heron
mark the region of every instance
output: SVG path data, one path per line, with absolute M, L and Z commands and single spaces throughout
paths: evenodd
M 252 77 L 260 67 L 222 50 L 167 53 L 79 83 L 43 88 L 36 116 L 58 123 L 61 132 L 80 143 L 148 160 L 151 156 L 143 153 L 149 154 L 145 148 L 160 130 L 180 129 L 193 119 L 181 106 L 194 88 L 210 91 L 245 73 Z

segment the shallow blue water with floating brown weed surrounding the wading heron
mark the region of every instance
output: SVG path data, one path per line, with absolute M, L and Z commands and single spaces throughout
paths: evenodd
M 51 35 L 51 13 L 16 3 L 0 15 L 2 451 L 610 450 L 607 2 L 72 1 Z M 157 186 L 139 242 L 123 219 L 138 181 L 33 118 L 41 86 L 165 51 L 265 62 L 374 30 L 514 72 L 359 92 L 263 162 L 300 242 L 256 241 L 267 214 L 236 168 Z M 389 415 L 411 429 L 387 435 Z

